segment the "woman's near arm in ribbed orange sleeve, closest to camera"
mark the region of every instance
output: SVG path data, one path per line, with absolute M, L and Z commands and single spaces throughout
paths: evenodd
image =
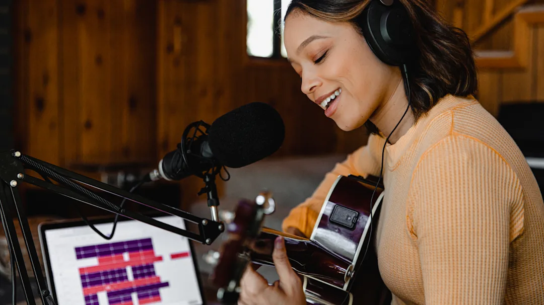
M 423 155 L 412 176 L 407 227 L 426 304 L 504 302 L 522 200 L 515 173 L 481 142 L 452 136 Z

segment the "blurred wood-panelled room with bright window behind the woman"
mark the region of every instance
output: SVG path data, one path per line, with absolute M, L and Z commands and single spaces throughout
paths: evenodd
M 543 185 L 544 1 L 428 1 L 469 35 L 477 98 L 522 147 Z M 240 105 L 265 102 L 283 117 L 283 146 L 231 171 L 231 181 L 218 181 L 219 193 L 229 208 L 261 188 L 275 190 L 280 208 L 269 224 L 278 226 L 368 138 L 364 128 L 340 130 L 301 93 L 282 41 L 289 2 L 0 0 L 2 150 L 128 189 L 176 148 L 189 123 L 212 123 Z M 205 213 L 206 197 L 196 195 L 202 186 L 189 177 L 138 192 Z M 76 204 L 85 215 L 105 215 L 45 190 L 21 190 L 33 223 L 78 217 Z

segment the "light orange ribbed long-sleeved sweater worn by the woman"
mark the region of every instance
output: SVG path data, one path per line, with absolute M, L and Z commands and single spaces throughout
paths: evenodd
M 338 175 L 378 176 L 371 135 L 294 208 L 310 236 Z M 523 154 L 473 98 L 446 96 L 384 156 L 376 251 L 393 304 L 544 304 L 544 203 Z

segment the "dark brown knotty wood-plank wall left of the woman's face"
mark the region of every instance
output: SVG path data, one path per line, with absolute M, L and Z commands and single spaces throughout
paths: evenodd
M 188 123 L 253 101 L 285 121 L 278 156 L 366 141 L 311 104 L 285 60 L 249 60 L 244 0 L 21 0 L 14 11 L 17 148 L 37 158 L 154 164 Z

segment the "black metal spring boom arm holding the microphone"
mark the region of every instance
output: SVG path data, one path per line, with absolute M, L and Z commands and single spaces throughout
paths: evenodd
M 40 173 L 40 175 L 44 177 L 44 180 L 25 175 L 25 169 L 34 170 Z M 44 276 L 41 272 L 41 266 L 38 260 L 38 252 L 36 252 L 36 248 L 34 246 L 34 241 L 32 238 L 32 233 L 30 233 L 26 214 L 22 209 L 22 201 L 17 189 L 17 185 L 20 182 L 26 182 L 39 186 L 57 194 L 89 204 L 90 206 L 101 208 L 112 213 L 125 216 L 129 219 L 144 222 L 153 227 L 158 227 L 166 231 L 185 236 L 188 239 L 201 242 L 202 244 L 212 244 L 212 242 L 217 239 L 225 229 L 224 224 L 218 221 L 201 218 L 187 213 L 186 211 L 166 206 L 162 203 L 154 202 L 145 197 L 115 188 L 112 185 L 79 175 L 78 173 L 63 169 L 62 167 L 29 157 L 28 155 L 23 155 L 14 150 L 0 152 L 0 179 L 2 180 L 0 181 L 0 216 L 2 218 L 2 224 L 8 239 L 8 244 L 11 248 L 10 258 L 15 259 L 16 261 L 24 294 L 29 305 L 34 305 L 35 301 L 26 272 L 27 269 L 22 256 L 21 247 L 15 231 L 15 224 L 12 219 L 12 208 L 15 208 L 17 213 L 17 219 L 22 229 L 24 243 L 27 247 L 30 264 L 32 265 L 32 269 L 34 271 L 34 276 L 36 283 L 38 284 L 42 303 L 44 305 L 54 305 L 55 302 L 50 295 L 50 291 L 45 285 Z M 50 179 L 55 180 L 58 184 L 54 184 Z M 142 204 L 146 207 L 150 207 L 163 213 L 178 216 L 190 222 L 196 223 L 199 228 L 199 233 L 197 234 L 185 229 L 180 229 L 164 222 L 157 221 L 152 217 L 145 216 L 125 208 L 120 208 L 116 204 L 109 202 L 106 198 L 101 197 L 88 188 L 84 188 L 82 184 L 92 186 L 96 189 L 108 192 L 109 194 L 126 198 L 127 200 Z M 12 281 L 15 281 L 15 279 Z

